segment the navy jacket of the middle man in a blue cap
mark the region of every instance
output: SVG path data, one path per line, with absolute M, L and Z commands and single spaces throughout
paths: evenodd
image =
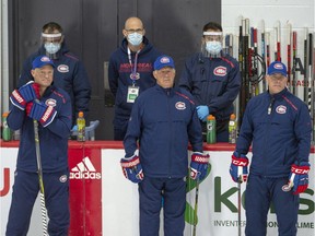
M 139 156 L 144 176 L 182 178 L 188 169 L 188 142 L 202 152 L 201 126 L 192 96 L 155 85 L 136 101 L 124 140 L 126 157 Z

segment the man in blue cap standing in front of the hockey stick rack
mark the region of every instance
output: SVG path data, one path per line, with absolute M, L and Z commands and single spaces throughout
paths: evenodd
M 246 181 L 246 154 L 252 144 L 245 234 L 267 235 L 267 214 L 272 202 L 279 236 L 293 236 L 299 193 L 308 186 L 311 117 L 306 104 L 288 91 L 287 67 L 282 62 L 269 66 L 266 80 L 268 91 L 253 97 L 246 106 L 230 174 L 234 181 Z

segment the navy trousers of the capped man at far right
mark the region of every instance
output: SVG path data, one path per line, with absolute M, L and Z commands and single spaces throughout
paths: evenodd
M 267 215 L 272 202 L 277 215 L 279 236 L 295 236 L 299 194 L 283 191 L 288 178 L 267 178 L 249 175 L 246 193 L 246 236 L 267 235 Z

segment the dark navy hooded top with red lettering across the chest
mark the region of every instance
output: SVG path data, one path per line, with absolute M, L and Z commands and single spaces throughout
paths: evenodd
M 139 94 L 155 85 L 153 76 L 153 64 L 155 59 L 161 56 L 148 38 L 143 37 L 144 47 L 140 50 L 137 59 L 137 73 L 139 76 L 135 81 Z M 114 127 L 127 129 L 128 119 L 131 114 L 133 103 L 127 103 L 128 86 L 132 85 L 130 79 L 131 70 L 135 67 L 136 52 L 130 52 L 131 64 L 128 58 L 128 42 L 124 38 L 121 46 L 117 48 L 109 59 L 108 81 L 110 91 L 115 96 L 115 117 Z

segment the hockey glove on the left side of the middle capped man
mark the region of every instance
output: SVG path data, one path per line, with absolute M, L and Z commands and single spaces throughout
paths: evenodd
M 121 158 L 120 165 L 125 177 L 130 181 L 138 184 L 144 178 L 139 156 Z

